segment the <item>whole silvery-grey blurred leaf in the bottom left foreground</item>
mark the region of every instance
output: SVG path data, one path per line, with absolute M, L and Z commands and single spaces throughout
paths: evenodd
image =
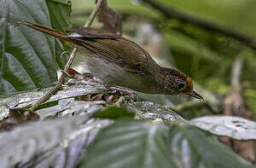
M 73 117 L 39 121 L 0 134 L 1 167 L 74 167 L 110 120 Z

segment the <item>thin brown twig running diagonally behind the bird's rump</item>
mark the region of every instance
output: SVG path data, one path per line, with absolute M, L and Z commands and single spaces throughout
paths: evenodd
M 96 3 L 96 7 L 95 9 L 93 9 L 93 11 L 90 14 L 89 20 L 86 21 L 84 27 L 89 27 L 92 23 L 92 21 L 95 19 L 96 14 L 99 10 L 99 8 L 101 7 L 102 4 L 102 0 L 98 0 Z M 45 101 L 47 101 L 50 96 L 52 96 L 53 94 L 55 94 L 55 92 L 57 90 L 60 90 L 61 85 L 64 83 L 64 79 L 66 78 L 66 74 L 67 70 L 69 69 L 69 67 L 71 66 L 73 59 L 76 55 L 77 52 L 77 48 L 75 47 L 71 53 L 71 55 L 68 58 L 67 64 L 65 65 L 64 71 L 61 73 L 61 77 L 59 78 L 57 84 L 55 85 L 55 87 L 53 87 L 51 90 L 49 90 L 49 92 L 47 92 L 41 99 L 39 99 L 34 105 L 32 105 L 32 107 L 30 107 L 30 110 L 35 110 L 40 104 L 44 103 Z

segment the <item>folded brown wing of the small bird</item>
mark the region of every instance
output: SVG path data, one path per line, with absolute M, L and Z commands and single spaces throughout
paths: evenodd
M 73 29 L 73 32 L 81 37 L 70 38 L 81 41 L 85 48 L 128 72 L 145 74 L 158 67 L 147 51 L 126 38 L 94 28 Z

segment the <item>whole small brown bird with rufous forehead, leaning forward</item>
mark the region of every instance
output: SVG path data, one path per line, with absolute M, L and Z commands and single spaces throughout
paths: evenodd
M 149 94 L 183 93 L 203 100 L 193 90 L 191 78 L 175 69 L 160 67 L 147 51 L 126 38 L 84 27 L 73 29 L 75 36 L 67 36 L 37 23 L 19 23 L 79 46 L 90 72 L 105 84 Z

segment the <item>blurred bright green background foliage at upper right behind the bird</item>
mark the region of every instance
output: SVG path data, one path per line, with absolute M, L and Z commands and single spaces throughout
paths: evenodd
M 163 35 L 168 56 L 174 65 L 190 75 L 193 80 L 221 96 L 232 91 L 230 71 L 237 56 L 244 60 L 241 84 L 247 106 L 256 115 L 256 58 L 255 51 L 231 38 L 208 32 L 178 20 L 165 20 L 154 9 L 148 9 L 137 0 L 108 0 L 117 12 L 147 16 L 145 20 L 126 20 L 124 33 L 131 32 L 143 23 L 153 24 Z M 256 1 L 254 0 L 160 0 L 174 9 L 195 17 L 211 20 L 231 30 L 256 39 Z M 74 13 L 86 13 L 94 1 L 73 0 Z M 148 20 L 148 18 L 151 18 Z M 73 17 L 73 25 L 84 24 L 84 16 Z M 133 30 L 133 31 L 132 31 Z

